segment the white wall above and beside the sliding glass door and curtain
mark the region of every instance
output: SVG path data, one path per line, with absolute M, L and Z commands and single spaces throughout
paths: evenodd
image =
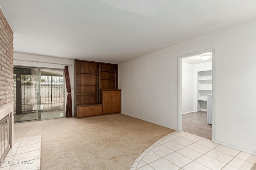
M 32 67 L 44 67 L 44 68 L 61 68 L 64 69 L 65 65 L 60 64 L 74 64 L 73 60 L 68 59 L 60 59 L 55 57 L 45 57 L 45 56 L 38 56 L 38 55 L 28 55 L 28 54 L 20 54 L 14 53 L 14 66 L 32 66 Z M 26 61 L 18 61 L 18 60 L 26 60 Z M 35 62 L 28 62 L 28 61 L 41 61 L 47 63 L 59 63 L 59 64 L 47 64 L 47 63 L 35 63 Z M 70 76 L 70 85 L 74 87 L 74 66 L 69 66 L 68 68 L 69 76 Z M 74 89 L 74 88 L 73 88 Z M 74 90 L 71 90 L 72 93 L 72 109 L 73 109 L 73 116 L 74 116 Z M 67 99 L 67 89 L 65 89 L 65 102 Z M 66 103 L 64 108 L 66 109 Z M 65 115 L 65 113 L 64 113 Z

